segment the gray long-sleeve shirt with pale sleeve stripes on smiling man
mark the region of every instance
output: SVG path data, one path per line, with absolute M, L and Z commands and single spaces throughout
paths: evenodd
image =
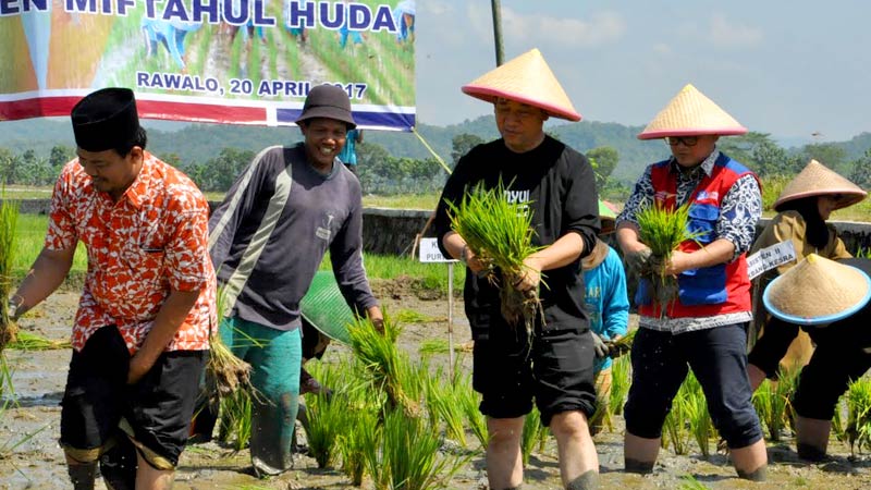
M 278 330 L 298 328 L 299 301 L 328 249 L 347 303 L 359 313 L 377 305 L 361 230 L 360 185 L 341 162 L 322 175 L 302 144 L 262 150 L 209 220 L 211 258 L 232 314 Z

